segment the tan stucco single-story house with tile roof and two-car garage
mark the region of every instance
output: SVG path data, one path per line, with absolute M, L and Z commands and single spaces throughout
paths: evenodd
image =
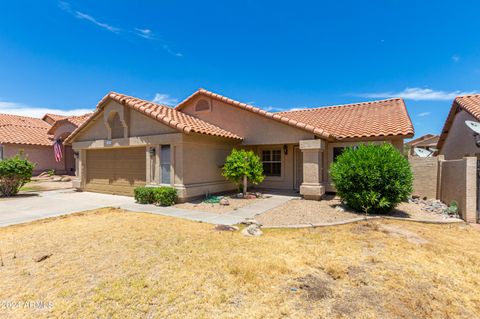
M 320 199 L 333 191 L 328 168 L 345 147 L 414 134 L 402 99 L 271 113 L 200 89 L 175 108 L 111 92 L 65 141 L 79 153 L 80 190 L 132 195 L 170 185 L 185 200 L 234 190 L 221 169 L 233 148 L 255 151 L 259 187 Z

